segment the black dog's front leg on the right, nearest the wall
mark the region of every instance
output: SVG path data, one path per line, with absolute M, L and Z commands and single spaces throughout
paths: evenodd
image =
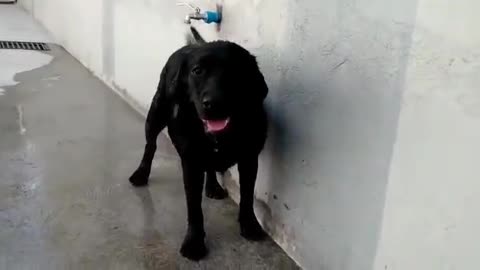
M 241 235 L 252 241 L 263 239 L 266 234 L 255 217 L 253 200 L 258 172 L 258 157 L 244 158 L 238 163 L 240 176 L 240 222 Z

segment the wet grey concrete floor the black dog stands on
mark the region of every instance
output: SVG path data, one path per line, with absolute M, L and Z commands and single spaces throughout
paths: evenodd
M 0 269 L 296 269 L 271 240 L 240 237 L 230 200 L 204 199 L 209 257 L 179 256 L 170 143 L 159 139 L 150 186 L 131 187 L 143 119 L 63 49 L 49 54 L 0 97 Z

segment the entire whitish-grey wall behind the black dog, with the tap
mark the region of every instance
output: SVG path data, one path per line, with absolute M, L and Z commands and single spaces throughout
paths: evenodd
M 183 45 L 174 0 L 21 2 L 142 110 Z M 477 2 L 229 0 L 219 33 L 200 27 L 258 55 L 257 205 L 306 269 L 480 268 Z

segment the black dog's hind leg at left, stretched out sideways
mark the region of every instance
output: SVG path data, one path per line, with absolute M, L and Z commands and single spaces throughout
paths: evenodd
M 148 184 L 148 177 L 152 168 L 152 161 L 157 150 L 158 134 L 167 125 L 170 117 L 170 106 L 165 95 L 164 72 L 160 79 L 158 91 L 153 98 L 152 105 L 148 111 L 147 120 L 145 122 L 145 150 L 143 152 L 142 161 L 137 170 L 130 176 L 130 183 L 136 187 Z

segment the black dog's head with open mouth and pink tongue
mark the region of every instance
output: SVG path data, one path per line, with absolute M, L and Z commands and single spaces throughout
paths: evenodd
M 183 69 L 189 98 L 210 133 L 237 118 L 248 119 L 268 93 L 255 57 L 232 42 L 195 45 Z

